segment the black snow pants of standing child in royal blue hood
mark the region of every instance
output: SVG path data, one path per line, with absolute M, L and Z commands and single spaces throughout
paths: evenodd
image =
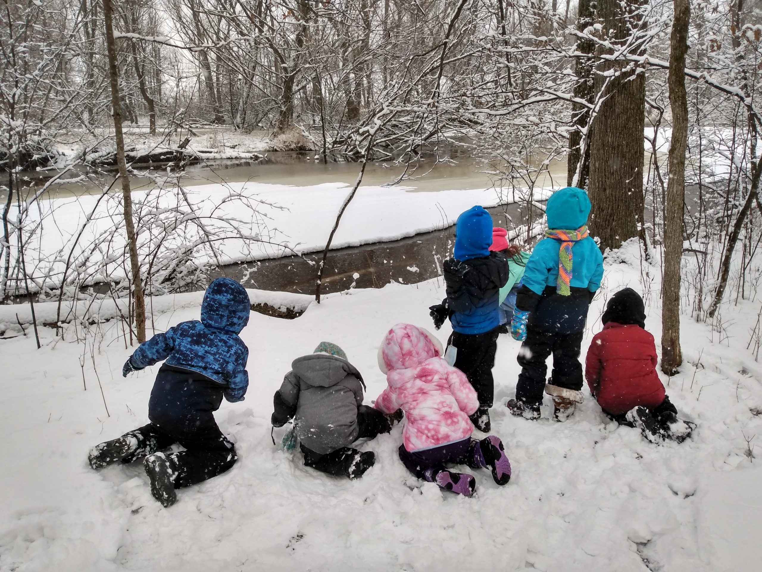
M 495 397 L 495 353 L 498 351 L 498 328 L 481 334 L 453 332 L 448 345 L 456 347 L 455 367 L 466 374 L 479 397 L 479 407 L 492 407 Z

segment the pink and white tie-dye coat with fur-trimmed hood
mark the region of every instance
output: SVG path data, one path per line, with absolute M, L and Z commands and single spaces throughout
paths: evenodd
M 379 368 L 389 387 L 376 399 L 376 408 L 405 412 L 402 439 L 408 451 L 467 439 L 473 432 L 469 415 L 479 407 L 476 392 L 442 353 L 435 336 L 411 324 L 397 324 L 381 342 Z

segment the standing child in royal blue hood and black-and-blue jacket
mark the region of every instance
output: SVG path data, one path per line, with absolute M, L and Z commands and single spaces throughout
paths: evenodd
M 447 317 L 453 325 L 448 345 L 456 351 L 455 363 L 479 397 L 471 423 L 489 432 L 489 408 L 495 394 L 492 367 L 498 350 L 499 293 L 508 280 L 503 255 L 490 252 L 492 217 L 482 207 L 472 207 L 458 217 L 454 258 L 444 262 L 447 298 L 432 306 L 431 317 L 439 329 Z

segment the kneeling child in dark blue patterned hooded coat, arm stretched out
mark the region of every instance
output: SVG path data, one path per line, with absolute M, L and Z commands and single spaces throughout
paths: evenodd
M 151 423 L 93 447 L 90 466 L 99 469 L 145 457 L 151 493 L 164 506 L 177 501 L 174 489 L 231 468 L 238 457 L 213 412 L 223 396 L 235 403 L 246 394 L 248 349 L 239 333 L 250 311 L 245 288 L 230 278 L 217 278 L 204 294 L 201 321 L 179 323 L 140 344 L 122 368 L 125 378 L 130 371 L 165 360 L 151 390 Z M 174 443 L 185 450 L 162 452 Z

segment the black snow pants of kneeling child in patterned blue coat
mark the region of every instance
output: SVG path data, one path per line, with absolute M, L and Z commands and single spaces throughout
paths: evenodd
M 190 487 L 203 480 L 216 477 L 229 470 L 238 460 L 235 447 L 217 424 L 212 419 L 207 423 L 195 427 L 193 430 L 172 430 L 156 423 L 134 429 L 123 435 L 125 439 L 134 438 L 138 442 L 138 449 L 123 459 L 127 463 L 138 457 L 152 455 L 157 451 L 163 451 L 174 443 L 179 443 L 185 451 L 167 453 L 167 458 L 178 471 L 174 480 L 174 488 Z

